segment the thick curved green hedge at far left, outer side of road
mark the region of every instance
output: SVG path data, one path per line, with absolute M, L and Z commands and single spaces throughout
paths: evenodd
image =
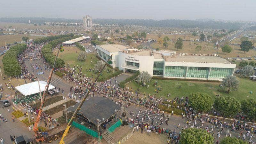
M 7 51 L 3 57 L 4 74 L 7 76 L 19 76 L 21 66 L 17 57 L 27 49 L 27 44 L 16 44 Z

